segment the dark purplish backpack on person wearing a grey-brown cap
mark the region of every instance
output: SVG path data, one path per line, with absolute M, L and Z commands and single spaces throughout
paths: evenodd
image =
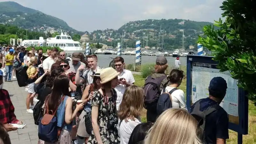
M 166 76 L 161 76 L 156 79 L 148 76 L 148 78 L 145 80 L 145 84 L 142 88 L 145 94 L 144 107 L 147 110 L 156 111 L 157 101 L 161 94 L 159 87 L 164 78 L 166 78 Z

